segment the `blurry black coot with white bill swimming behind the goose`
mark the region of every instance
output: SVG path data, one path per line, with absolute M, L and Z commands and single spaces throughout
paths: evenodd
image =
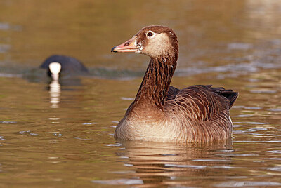
M 42 63 L 40 67 L 47 69 L 48 76 L 52 78 L 53 76 L 51 67 L 53 62 L 58 62 L 61 66 L 58 73 L 59 76 L 71 77 L 88 73 L 88 69 L 76 58 L 65 55 L 51 55 Z M 53 67 L 53 70 L 56 72 L 55 68 L 58 68 L 58 65 Z

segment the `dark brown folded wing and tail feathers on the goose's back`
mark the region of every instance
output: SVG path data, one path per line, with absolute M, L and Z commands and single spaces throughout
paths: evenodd
M 228 114 L 238 93 L 224 88 L 211 88 L 211 85 L 190 86 L 179 90 L 169 87 L 165 104 L 169 108 L 184 108 L 187 116 L 197 117 L 197 121 L 212 121 L 215 116 Z

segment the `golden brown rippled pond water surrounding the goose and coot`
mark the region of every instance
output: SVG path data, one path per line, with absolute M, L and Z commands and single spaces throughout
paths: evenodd
M 279 1 L 0 1 L 0 187 L 281 187 Z M 240 93 L 233 140 L 116 142 L 148 58 L 110 49 L 145 25 L 175 30 L 172 85 Z M 49 83 L 72 55 L 90 75 Z

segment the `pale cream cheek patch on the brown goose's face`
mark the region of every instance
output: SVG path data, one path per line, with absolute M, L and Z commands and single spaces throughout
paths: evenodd
M 152 33 L 152 36 L 148 36 L 149 33 Z M 143 53 L 153 58 L 160 55 L 166 55 L 172 48 L 169 36 L 166 33 L 158 34 L 148 31 L 145 40 L 147 40 L 145 46 L 143 46 L 142 42 L 138 43 L 139 53 Z

